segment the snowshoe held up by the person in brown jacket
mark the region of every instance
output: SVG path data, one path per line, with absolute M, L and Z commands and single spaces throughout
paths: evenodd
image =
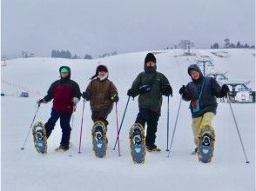
M 91 129 L 92 149 L 98 158 L 104 158 L 107 150 L 107 137 L 104 122 L 95 122 Z

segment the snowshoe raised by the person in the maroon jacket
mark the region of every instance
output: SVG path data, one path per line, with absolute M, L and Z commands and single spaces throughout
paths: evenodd
M 36 122 L 32 127 L 34 146 L 38 153 L 47 153 L 47 137 L 44 122 Z

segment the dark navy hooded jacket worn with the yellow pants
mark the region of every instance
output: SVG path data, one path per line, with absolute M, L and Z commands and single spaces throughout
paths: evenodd
M 191 101 L 189 109 L 192 112 L 192 118 L 196 118 L 199 116 L 204 115 L 206 112 L 212 112 L 216 115 L 217 110 L 217 101 L 216 97 L 222 97 L 221 94 L 221 87 L 219 86 L 218 82 L 209 76 L 203 76 L 201 70 L 196 64 L 192 64 L 188 68 L 188 74 L 190 75 L 190 71 L 194 69 L 197 70 L 200 74 L 199 80 L 192 80 L 185 86 L 185 93 L 182 95 L 185 101 Z M 199 99 L 199 94 L 201 91 L 201 87 L 205 78 L 205 84 L 202 89 L 202 95 L 199 100 L 199 112 L 192 111 L 192 101 Z

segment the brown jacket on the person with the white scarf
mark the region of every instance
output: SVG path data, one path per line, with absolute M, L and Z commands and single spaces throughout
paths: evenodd
M 101 109 L 113 108 L 111 96 L 118 94 L 118 89 L 113 82 L 106 79 L 99 81 L 98 79 L 92 80 L 86 88 L 86 92 L 90 96 L 91 111 L 100 111 Z

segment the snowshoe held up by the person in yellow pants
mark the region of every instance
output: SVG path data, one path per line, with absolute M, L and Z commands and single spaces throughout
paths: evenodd
M 201 128 L 199 133 L 199 161 L 204 163 L 212 161 L 215 142 L 215 132 L 210 126 Z

